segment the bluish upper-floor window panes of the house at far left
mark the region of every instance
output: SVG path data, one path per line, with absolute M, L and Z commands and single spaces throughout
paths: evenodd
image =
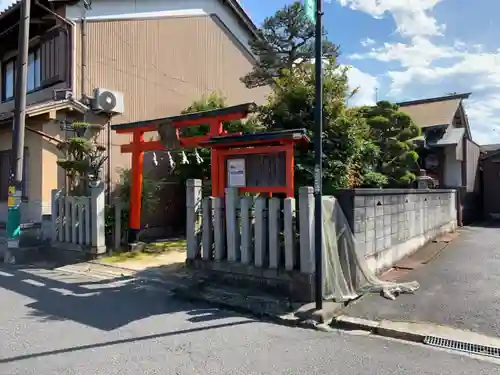
M 41 87 L 40 48 L 32 50 L 28 55 L 26 90 L 33 92 Z M 16 59 L 6 61 L 2 66 L 2 100 L 14 98 L 16 85 Z

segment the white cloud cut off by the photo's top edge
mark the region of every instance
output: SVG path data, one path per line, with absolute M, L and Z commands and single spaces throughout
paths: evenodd
M 441 35 L 445 25 L 439 24 L 430 14 L 442 0 L 337 0 L 347 6 L 382 18 L 386 13 L 396 22 L 396 31 L 402 36 Z

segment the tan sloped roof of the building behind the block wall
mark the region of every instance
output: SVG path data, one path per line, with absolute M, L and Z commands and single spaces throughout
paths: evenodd
M 400 110 L 412 118 L 421 128 L 449 125 L 463 99 L 470 93 L 454 94 L 430 99 L 412 100 L 398 103 Z

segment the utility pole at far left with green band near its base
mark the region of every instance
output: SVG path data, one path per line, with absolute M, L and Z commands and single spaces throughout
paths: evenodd
M 19 234 L 21 226 L 20 206 L 23 188 L 24 131 L 26 120 L 26 85 L 28 74 L 30 13 L 31 0 L 23 0 L 21 4 L 18 53 L 16 59 L 14 91 L 15 114 L 14 122 L 12 124 L 12 156 L 10 158 L 7 218 L 8 252 L 11 257 L 14 255 L 15 249 L 19 248 Z

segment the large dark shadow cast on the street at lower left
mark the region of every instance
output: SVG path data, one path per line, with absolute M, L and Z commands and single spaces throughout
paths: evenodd
M 54 274 L 58 277 L 54 278 Z M 150 284 L 130 277 L 84 284 L 75 278 L 75 275 L 49 270 L 0 266 L 0 288 L 35 300 L 27 307 L 33 310 L 31 315 L 39 319 L 71 320 L 112 331 L 133 321 L 176 312 L 187 313 L 191 322 L 230 316 L 217 309 L 193 309 L 193 304 L 158 293 L 157 287 L 151 291 Z M 165 335 L 171 334 L 174 333 Z

